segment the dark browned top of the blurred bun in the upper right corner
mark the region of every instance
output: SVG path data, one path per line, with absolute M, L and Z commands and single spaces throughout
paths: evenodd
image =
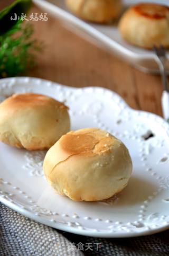
M 140 3 L 132 7 L 133 10 L 149 19 L 165 19 L 169 16 L 169 7 L 153 3 Z

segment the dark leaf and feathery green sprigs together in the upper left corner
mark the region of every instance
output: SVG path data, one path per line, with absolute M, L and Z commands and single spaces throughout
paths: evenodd
M 27 13 L 31 0 L 15 0 L 0 12 L 0 78 L 22 74 L 35 65 L 35 52 L 42 43 L 32 39 L 33 27 L 21 20 L 13 21 L 14 13 Z

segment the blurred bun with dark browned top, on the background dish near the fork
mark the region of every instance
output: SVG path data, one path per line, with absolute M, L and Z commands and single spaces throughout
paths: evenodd
M 169 47 L 169 7 L 152 3 L 134 5 L 121 17 L 119 31 L 127 42 L 138 47 Z

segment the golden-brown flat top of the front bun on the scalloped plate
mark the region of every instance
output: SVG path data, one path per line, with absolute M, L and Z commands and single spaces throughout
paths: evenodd
M 71 131 L 60 139 L 60 146 L 69 155 L 97 155 L 110 150 L 119 143 L 106 131 L 96 128 Z

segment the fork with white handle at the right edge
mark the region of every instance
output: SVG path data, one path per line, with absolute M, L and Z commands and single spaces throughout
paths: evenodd
M 166 51 L 165 48 L 161 45 L 159 47 L 154 46 L 153 50 L 155 52 L 155 59 L 159 66 L 159 70 L 162 76 L 162 83 L 163 83 L 163 94 L 162 94 L 162 109 L 163 109 L 163 116 L 169 122 L 169 90 L 168 90 L 168 83 L 167 83 L 167 74 L 165 70 L 165 62 L 167 61 Z

